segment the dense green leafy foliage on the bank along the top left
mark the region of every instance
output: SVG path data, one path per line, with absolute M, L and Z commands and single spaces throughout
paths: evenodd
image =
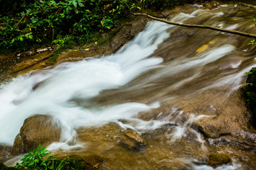
M 115 26 L 114 18 L 127 16 L 130 11 L 171 8 L 188 1 L 191 0 L 0 0 L 6 6 L 0 11 L 0 51 L 22 51 L 43 44 L 60 49 L 67 46 L 68 40 L 77 45 L 92 42 L 95 34 Z

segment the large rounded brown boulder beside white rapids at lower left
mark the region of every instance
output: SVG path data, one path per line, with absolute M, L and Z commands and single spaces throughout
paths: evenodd
M 49 115 L 33 115 L 24 121 L 20 133 L 16 136 L 13 153 L 31 152 L 39 144 L 45 147 L 59 140 L 60 128 L 53 123 Z

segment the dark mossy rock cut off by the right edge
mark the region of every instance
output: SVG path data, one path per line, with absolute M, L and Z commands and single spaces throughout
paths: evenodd
M 256 128 L 256 67 L 253 67 L 247 74 L 246 99 L 252 111 L 252 125 Z

